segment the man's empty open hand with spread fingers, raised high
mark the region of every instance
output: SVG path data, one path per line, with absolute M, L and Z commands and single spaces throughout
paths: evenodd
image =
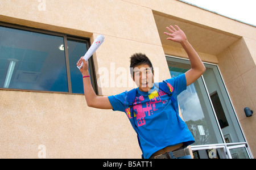
M 176 28 L 172 27 L 172 25 L 170 25 L 170 28 L 166 27 L 166 29 L 170 32 L 164 32 L 165 35 L 170 36 L 167 38 L 167 40 L 172 40 L 179 43 L 187 41 L 187 36 L 185 33 L 177 25 L 175 25 L 175 27 Z

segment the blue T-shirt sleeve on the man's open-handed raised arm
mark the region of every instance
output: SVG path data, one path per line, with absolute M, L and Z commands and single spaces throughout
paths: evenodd
M 184 90 L 187 90 L 187 80 L 185 74 L 175 76 L 174 78 L 167 79 L 167 82 L 174 87 L 174 91 L 179 95 Z

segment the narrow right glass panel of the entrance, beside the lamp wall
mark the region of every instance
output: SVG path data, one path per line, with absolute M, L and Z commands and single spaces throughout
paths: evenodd
M 205 64 L 205 67 L 207 67 L 207 70 L 203 74 L 203 78 L 225 142 L 245 142 L 217 66 Z

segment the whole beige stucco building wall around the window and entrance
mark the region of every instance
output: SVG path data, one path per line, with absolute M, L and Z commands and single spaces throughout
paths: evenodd
M 220 66 L 255 155 L 255 135 L 251 132 L 255 116 L 245 118 L 242 113 L 244 105 L 255 111 L 255 88 L 250 79 L 250 75 L 256 75 L 255 27 L 175 0 L 0 2 L 1 22 L 89 37 L 91 41 L 103 34 L 105 42 L 93 59 L 96 73 L 101 68 L 109 70 L 110 87 L 98 88 L 99 94 L 105 96 L 131 89 L 111 87 L 111 84 L 118 77 L 117 68 L 128 70 L 129 57 L 135 52 L 146 53 L 159 70 L 159 80 L 170 78 L 165 54 L 187 57 L 179 46 L 168 46 L 162 42 L 154 17 L 156 14 L 177 22 L 189 22 L 210 32 L 237 35 L 230 42 L 241 37 L 225 46 L 224 50 L 218 48 L 221 49 L 218 54 L 207 50 L 198 52 L 203 61 Z M 236 57 L 237 53 L 242 54 Z M 246 60 L 245 65 L 241 64 L 241 59 Z M 230 69 L 234 69 L 232 73 Z M 126 74 L 129 77 L 129 71 Z M 101 82 L 102 76 L 96 76 Z M 241 84 L 243 90 L 234 91 Z M 88 108 L 83 95 L 0 90 L 0 100 L 0 158 L 38 158 L 40 145 L 46 146 L 47 158 L 141 158 L 136 134 L 126 115 Z M 245 104 L 241 105 L 241 101 Z

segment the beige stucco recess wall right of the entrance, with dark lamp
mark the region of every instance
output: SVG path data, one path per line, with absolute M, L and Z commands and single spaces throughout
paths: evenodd
M 255 42 L 241 38 L 217 56 L 218 66 L 253 155 L 256 155 L 255 131 L 253 130 L 256 128 L 255 115 L 246 117 L 243 109 L 249 107 L 255 112 L 256 108 L 256 66 L 253 59 Z

